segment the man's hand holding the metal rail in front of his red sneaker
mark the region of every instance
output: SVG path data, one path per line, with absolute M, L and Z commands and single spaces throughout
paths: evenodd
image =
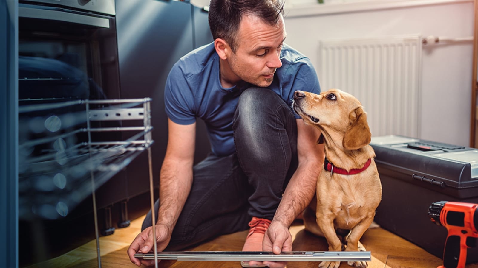
M 292 236 L 289 227 L 282 222 L 272 220 L 271 225 L 267 228 L 262 240 L 262 250 L 272 251 L 274 254 L 280 254 L 282 251 L 292 251 Z M 250 261 L 250 266 L 266 265 L 270 268 L 284 268 L 286 262 L 276 261 Z

